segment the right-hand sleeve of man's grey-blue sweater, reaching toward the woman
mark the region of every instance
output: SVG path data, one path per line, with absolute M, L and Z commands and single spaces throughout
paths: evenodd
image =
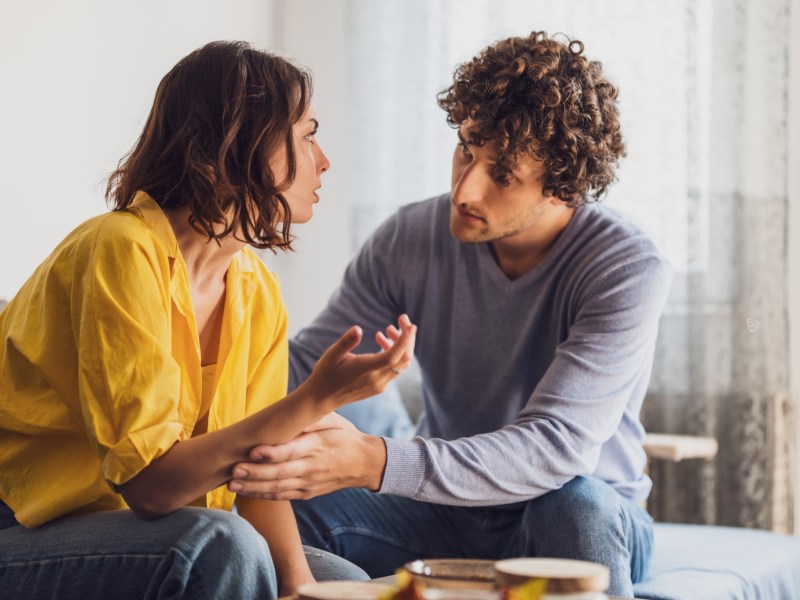
M 450 505 L 510 504 L 593 473 L 635 387 L 649 378 L 670 281 L 668 263 L 652 253 L 593 277 L 516 420 L 452 441 L 386 439 L 380 492 Z

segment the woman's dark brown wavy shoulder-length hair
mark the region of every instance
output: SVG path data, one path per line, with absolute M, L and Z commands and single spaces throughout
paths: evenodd
M 206 44 L 161 80 L 144 131 L 109 177 L 107 200 L 123 210 L 143 190 L 162 208 L 188 206 L 190 224 L 210 239 L 235 233 L 256 248 L 290 248 L 281 192 L 295 177 L 292 126 L 311 90 L 310 75 L 281 57 L 245 42 Z M 287 172 L 276 175 L 268 161 L 281 145 Z

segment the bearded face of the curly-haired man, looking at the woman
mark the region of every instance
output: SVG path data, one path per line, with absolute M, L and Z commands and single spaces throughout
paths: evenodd
M 523 238 L 554 200 L 542 194 L 542 163 L 520 160 L 503 185 L 491 175 L 494 142 L 469 144 L 470 127 L 459 127 L 453 154 L 450 231 L 462 242 Z

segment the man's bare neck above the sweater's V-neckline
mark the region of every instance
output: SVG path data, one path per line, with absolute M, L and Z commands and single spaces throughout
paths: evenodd
M 489 242 L 497 266 L 511 281 L 525 275 L 544 260 L 574 213 L 574 208 L 550 205 L 525 231 Z

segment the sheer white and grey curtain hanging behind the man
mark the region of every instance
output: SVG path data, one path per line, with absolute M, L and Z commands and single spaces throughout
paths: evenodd
M 653 466 L 661 520 L 791 528 L 786 212 L 789 0 L 350 0 L 352 246 L 449 189 L 435 96 L 484 45 L 581 39 L 621 90 L 628 157 L 605 202 L 662 247 L 675 282 L 649 429 L 714 435 L 710 462 Z

